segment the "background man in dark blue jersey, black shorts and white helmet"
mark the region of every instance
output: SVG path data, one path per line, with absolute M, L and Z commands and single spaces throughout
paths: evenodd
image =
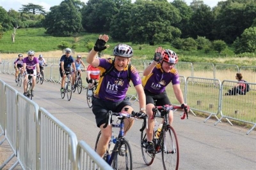
M 74 71 L 76 71 L 76 65 L 74 62 L 73 57 L 71 56 L 72 50 L 70 48 L 65 49 L 65 54 L 60 58 L 60 76 L 61 76 L 61 89 L 60 92 L 64 92 L 64 85 L 65 85 L 65 78 L 66 74 L 65 71 L 70 72 L 70 67 L 72 66 Z M 70 73 L 71 74 L 71 73 Z

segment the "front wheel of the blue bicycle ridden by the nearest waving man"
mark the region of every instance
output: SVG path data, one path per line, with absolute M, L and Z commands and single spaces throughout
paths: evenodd
M 132 152 L 129 142 L 123 139 L 118 146 L 112 163 L 113 169 L 132 169 Z

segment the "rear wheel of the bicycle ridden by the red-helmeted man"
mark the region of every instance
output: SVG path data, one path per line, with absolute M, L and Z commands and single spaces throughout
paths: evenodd
M 140 146 L 143 160 L 147 166 L 150 166 L 153 163 L 156 154 L 147 152 L 147 133 L 145 131 L 141 132 Z

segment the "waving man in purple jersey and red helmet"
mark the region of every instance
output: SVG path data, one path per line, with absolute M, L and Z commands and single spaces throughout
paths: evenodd
M 172 50 L 163 50 L 163 48 L 156 48 L 154 60 L 143 72 L 142 85 L 146 95 L 146 110 L 148 115 L 148 129 L 147 129 L 147 151 L 154 153 L 153 129 L 154 120 L 151 119 L 153 115 L 154 100 L 156 106 L 163 106 L 170 104 L 168 95 L 166 94 L 166 87 L 172 82 L 174 94 L 184 110 L 187 110 L 184 104 L 182 90 L 180 89 L 179 74 L 174 65 L 178 62 L 178 56 Z M 169 122 L 173 122 L 173 111 L 169 113 Z

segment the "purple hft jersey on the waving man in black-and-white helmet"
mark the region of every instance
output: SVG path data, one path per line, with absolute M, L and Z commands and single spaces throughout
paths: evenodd
M 99 59 L 100 75 L 112 66 L 112 60 Z M 95 97 L 105 101 L 118 102 L 124 100 L 129 88 L 128 66 L 124 71 L 117 71 L 115 68 L 100 77 L 99 85 L 95 90 Z M 141 78 L 134 66 L 131 66 L 130 78 L 134 86 L 141 84 Z

